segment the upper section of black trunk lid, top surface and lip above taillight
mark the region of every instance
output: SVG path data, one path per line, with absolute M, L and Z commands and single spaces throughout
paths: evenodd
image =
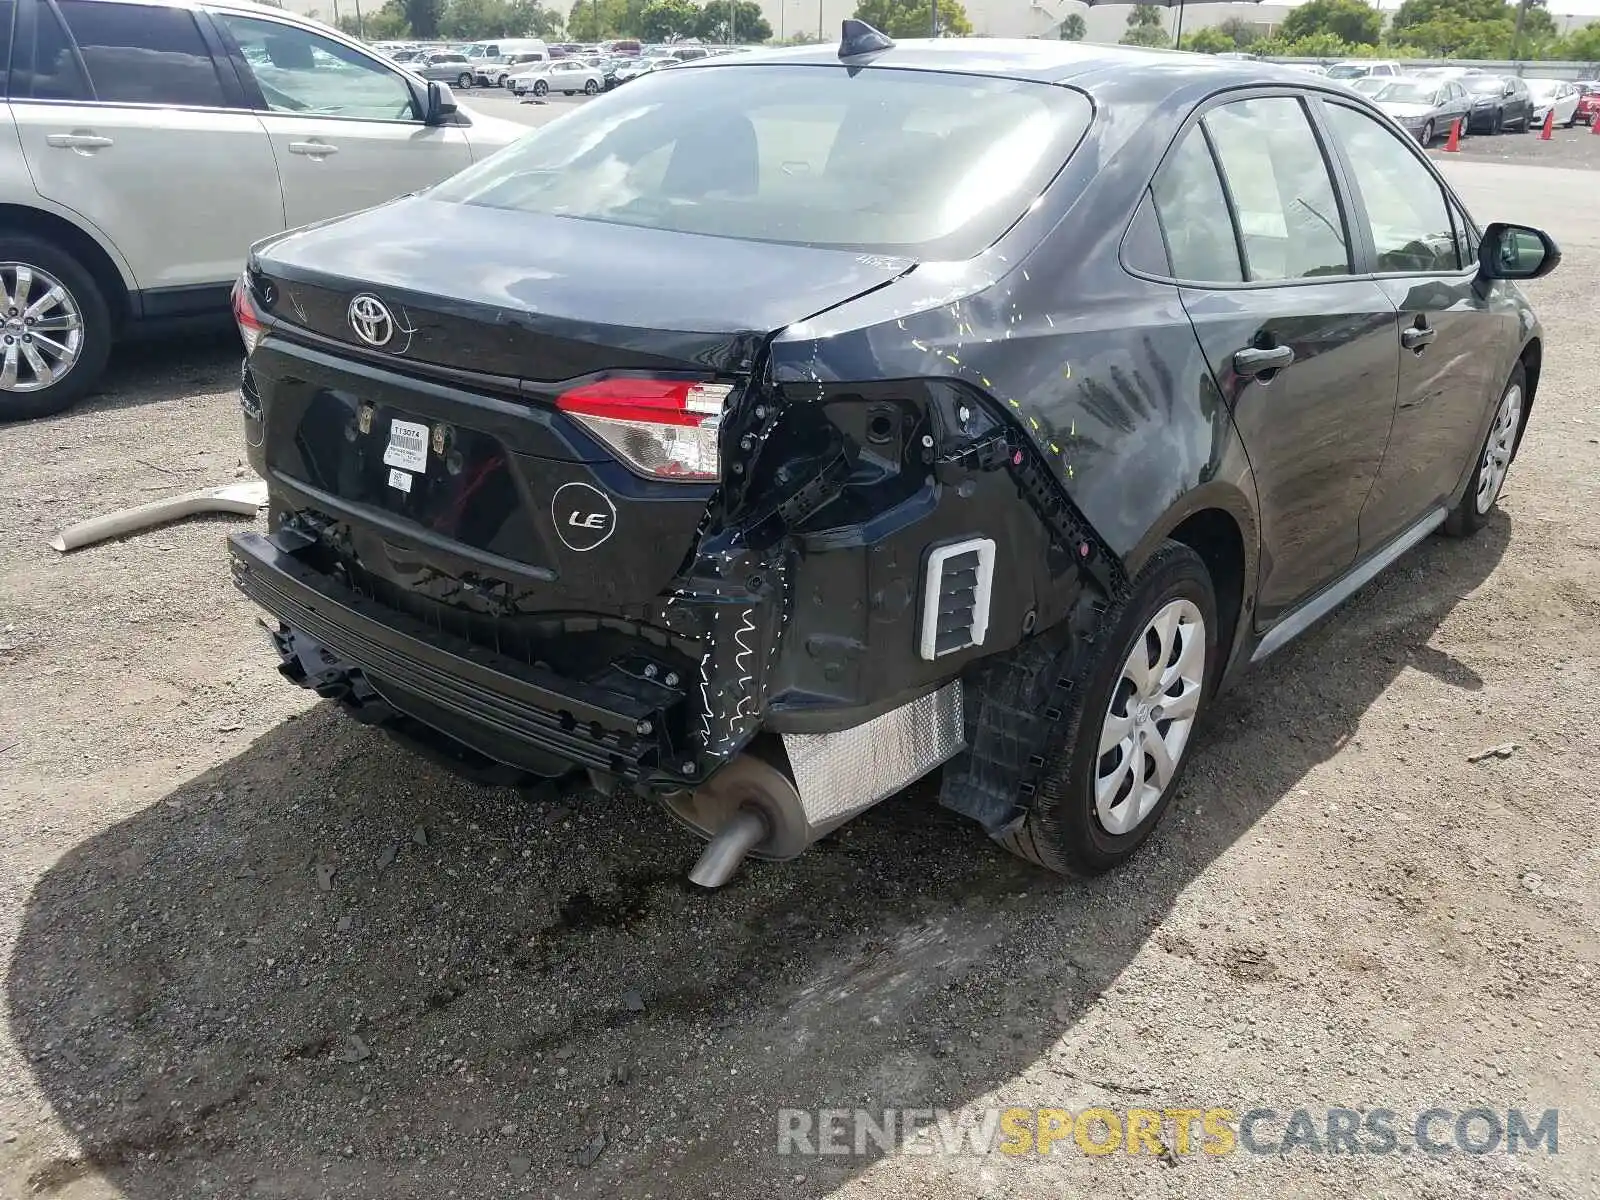
M 530 382 L 602 370 L 749 370 L 760 339 L 912 259 L 635 229 L 406 197 L 256 248 L 274 315 L 360 350 L 350 301 L 397 317 L 405 362 Z

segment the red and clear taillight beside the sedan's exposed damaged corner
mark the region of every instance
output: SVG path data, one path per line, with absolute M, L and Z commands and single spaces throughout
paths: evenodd
M 720 475 L 717 434 L 733 389 L 693 379 L 602 379 L 563 392 L 555 406 L 648 478 Z

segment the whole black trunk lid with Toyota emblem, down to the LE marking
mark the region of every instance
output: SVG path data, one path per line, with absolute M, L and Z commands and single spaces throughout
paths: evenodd
M 557 397 L 637 373 L 738 403 L 771 333 L 912 266 L 400 200 L 251 256 L 253 461 L 408 600 L 643 611 L 712 485 L 635 474 Z

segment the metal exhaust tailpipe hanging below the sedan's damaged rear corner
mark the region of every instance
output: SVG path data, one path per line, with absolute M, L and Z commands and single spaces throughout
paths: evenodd
M 742 754 L 693 792 L 666 798 L 667 811 L 710 838 L 690 882 L 720 888 L 746 858 L 795 858 L 814 840 L 800 792 L 778 766 Z

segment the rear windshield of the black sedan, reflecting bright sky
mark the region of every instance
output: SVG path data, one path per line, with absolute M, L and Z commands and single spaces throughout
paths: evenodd
M 435 200 L 782 242 L 971 258 L 1088 128 L 1050 83 L 869 67 L 662 70 L 435 187 Z

